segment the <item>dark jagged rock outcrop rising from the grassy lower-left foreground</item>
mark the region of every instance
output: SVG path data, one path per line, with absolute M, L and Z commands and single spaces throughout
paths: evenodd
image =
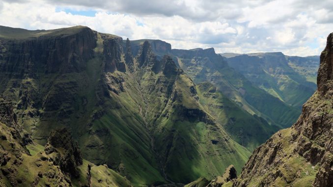
M 59 151 L 60 149 L 62 151 Z M 72 177 L 79 176 L 77 166 L 83 164 L 81 150 L 67 129 L 55 130 L 50 134 L 45 152 L 47 154 L 57 153 L 53 157 L 53 162 L 60 166 L 61 171 L 69 173 Z

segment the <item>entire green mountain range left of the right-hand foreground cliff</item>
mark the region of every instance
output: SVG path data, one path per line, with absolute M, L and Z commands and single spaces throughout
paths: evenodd
M 296 122 L 319 66 L 83 26 L 1 26 L 0 52 L 1 186 L 182 186 L 241 171 Z

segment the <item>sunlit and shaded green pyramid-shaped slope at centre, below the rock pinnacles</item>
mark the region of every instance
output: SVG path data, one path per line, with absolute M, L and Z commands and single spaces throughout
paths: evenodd
M 201 176 L 212 179 L 221 174 L 230 163 L 236 163 L 236 167 L 240 169 L 250 154 L 230 139 L 219 123 L 203 123 L 181 113 L 184 107 L 185 110 L 205 110 L 194 98 L 189 97 L 191 86 L 193 82 L 186 75 L 177 77 L 174 90 L 180 98 L 174 103 L 169 101 L 163 112 L 168 117 L 161 115 L 157 119 L 158 126 L 154 133 L 157 151 L 167 152 L 167 157 L 164 158 L 167 176 L 183 183 Z M 213 144 L 212 140 L 219 142 Z

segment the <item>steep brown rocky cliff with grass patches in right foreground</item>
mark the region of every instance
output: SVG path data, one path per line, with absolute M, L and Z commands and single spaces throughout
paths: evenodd
M 234 187 L 333 186 L 333 34 L 320 56 L 318 89 L 298 121 L 254 150 Z

